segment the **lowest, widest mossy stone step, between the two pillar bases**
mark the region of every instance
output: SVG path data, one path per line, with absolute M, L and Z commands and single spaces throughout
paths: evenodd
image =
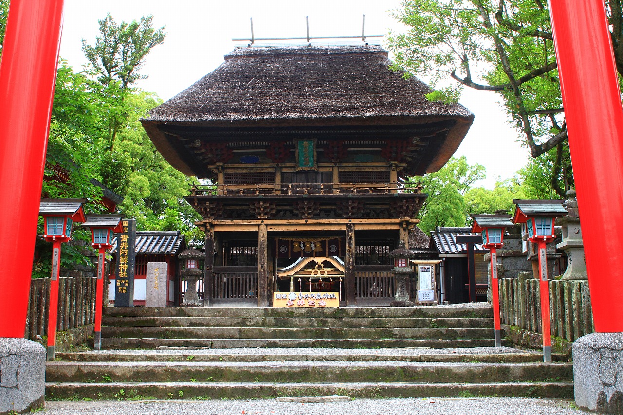
M 117 382 L 45 385 L 45 399 L 267 399 L 278 396 L 346 395 L 351 398 L 524 396 L 573 398 L 571 382 L 508 383 L 219 383 Z

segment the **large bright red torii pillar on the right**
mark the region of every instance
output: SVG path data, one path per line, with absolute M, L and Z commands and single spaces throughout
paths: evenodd
M 549 14 L 595 330 L 623 332 L 623 234 L 613 231 L 623 222 L 623 107 L 606 9 L 603 0 L 549 0 Z

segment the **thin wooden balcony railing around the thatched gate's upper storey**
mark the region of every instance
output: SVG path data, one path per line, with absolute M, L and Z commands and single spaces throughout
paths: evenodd
M 249 194 L 392 194 L 421 193 L 416 183 L 203 184 L 191 196 Z

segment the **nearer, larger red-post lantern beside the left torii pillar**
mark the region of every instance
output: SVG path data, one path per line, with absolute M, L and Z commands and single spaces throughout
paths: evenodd
M 41 199 L 39 215 L 43 216 L 43 237 L 52 242 L 52 272 L 50 273 L 50 305 L 47 324 L 47 359 L 55 357 L 56 321 L 59 312 L 60 244 L 72 239 L 74 222 L 84 222 L 82 204 L 87 199 Z

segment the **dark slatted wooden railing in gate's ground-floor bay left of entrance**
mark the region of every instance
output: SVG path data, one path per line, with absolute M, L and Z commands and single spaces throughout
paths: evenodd
M 257 298 L 257 267 L 214 267 L 212 298 Z

